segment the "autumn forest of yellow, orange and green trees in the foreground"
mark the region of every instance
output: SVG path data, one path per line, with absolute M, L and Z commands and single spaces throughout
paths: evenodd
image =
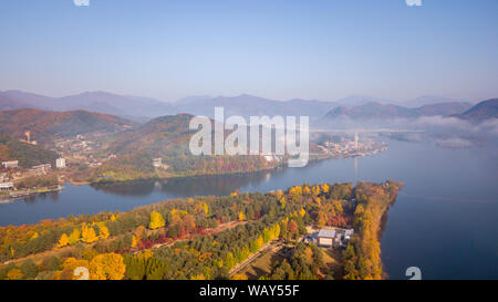
M 79 279 L 79 267 L 94 280 L 247 279 L 234 269 L 272 242 L 290 253 L 260 279 L 382 279 L 377 232 L 401 186 L 303 184 L 0 227 L 0 279 Z M 302 241 L 307 226 L 357 230 L 341 271 L 324 264 L 324 249 Z

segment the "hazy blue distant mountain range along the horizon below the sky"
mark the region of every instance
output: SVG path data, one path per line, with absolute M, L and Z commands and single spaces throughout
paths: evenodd
M 458 105 L 456 103 L 460 104 Z M 424 107 L 418 115 L 425 115 L 424 111 L 439 112 L 439 115 L 458 114 L 470 106 L 468 103 L 442 96 L 421 96 L 406 102 L 396 102 L 365 95 L 352 95 L 336 100 L 335 102 L 325 102 L 302 98 L 277 101 L 241 94 L 237 96 L 216 97 L 189 96 L 177 102 L 162 102 L 149 97 L 118 95 L 107 92 L 84 92 L 63 97 L 50 97 L 21 91 L 0 92 L 1 111 L 17 108 L 38 108 L 58 112 L 83 110 L 117 115 L 141 122 L 178 113 L 214 117 L 215 106 L 222 106 L 226 115 L 241 115 L 246 118 L 251 115 L 308 115 L 313 121 L 322 118 L 330 111 L 335 111 L 336 114 L 352 112 L 350 114 L 361 116 L 369 114 L 369 112 L 373 116 L 384 116 L 390 112 L 400 116 L 411 116 L 417 115 L 416 111 L 412 111 L 412 108 L 422 107 L 427 104 L 437 105 L 437 107 Z M 459 111 L 460 108 L 463 110 Z

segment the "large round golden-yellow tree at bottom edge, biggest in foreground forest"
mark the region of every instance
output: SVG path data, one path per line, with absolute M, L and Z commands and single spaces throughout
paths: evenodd
M 121 280 L 126 271 L 123 257 L 118 253 L 102 253 L 90 262 L 92 280 Z

